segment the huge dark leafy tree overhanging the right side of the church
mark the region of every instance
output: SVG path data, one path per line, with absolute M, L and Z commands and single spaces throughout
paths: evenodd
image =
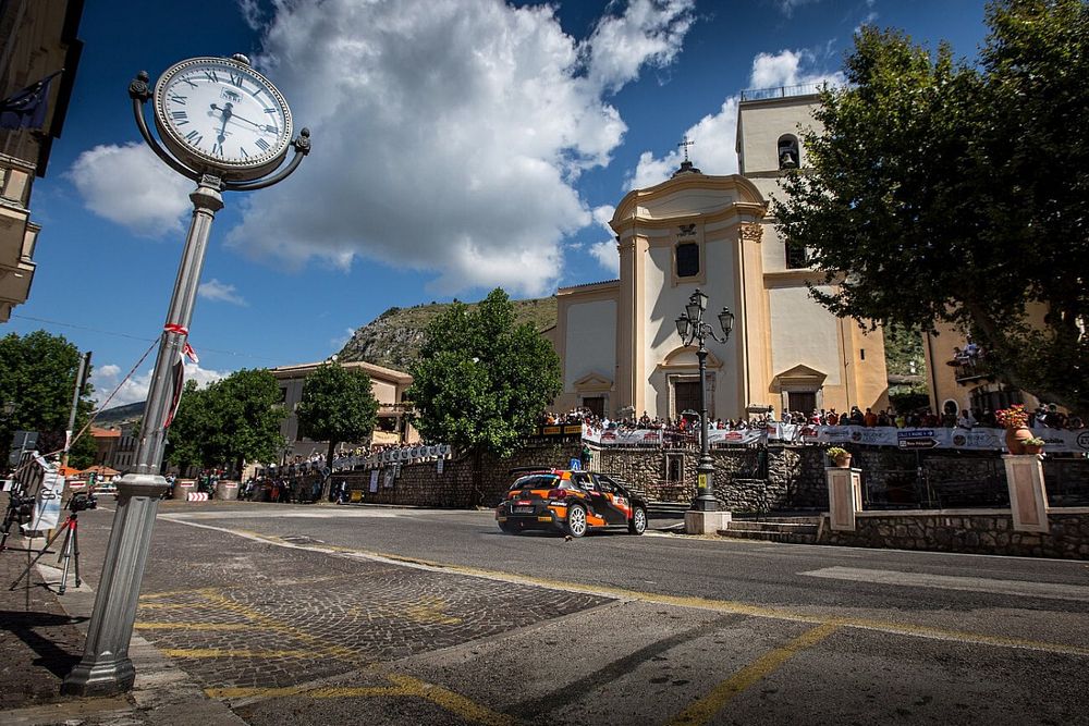
M 971 334 L 988 365 L 1089 410 L 1089 5 L 1004 0 L 980 64 L 864 28 L 774 213 L 837 315 Z

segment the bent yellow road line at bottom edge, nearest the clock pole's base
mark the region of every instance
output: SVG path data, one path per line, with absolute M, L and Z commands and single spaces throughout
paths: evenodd
M 487 726 L 512 726 L 517 721 L 498 713 L 455 693 L 441 686 L 428 684 L 400 673 L 379 674 L 391 681 L 393 686 L 332 686 L 306 687 L 289 686 L 286 688 L 206 688 L 205 693 L 211 698 L 283 698 L 304 696 L 311 699 L 345 699 L 345 698 L 420 698 L 461 716 L 465 721 Z

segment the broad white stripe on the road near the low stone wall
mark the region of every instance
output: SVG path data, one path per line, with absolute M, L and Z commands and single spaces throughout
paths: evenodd
M 1048 600 L 1089 600 L 1089 587 L 1062 585 L 1057 582 L 1029 582 L 1026 580 L 995 580 L 987 577 L 953 577 L 929 575 L 927 573 L 900 573 L 889 569 L 861 569 L 857 567 L 824 567 L 808 573 L 809 577 L 851 582 L 874 582 L 910 588 L 937 588 L 940 590 L 964 590 L 967 592 L 989 592 L 1020 598 L 1044 598 Z

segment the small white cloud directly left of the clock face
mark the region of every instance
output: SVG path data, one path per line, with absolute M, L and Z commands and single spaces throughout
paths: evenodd
M 194 184 L 162 163 L 143 143 L 84 151 L 64 173 L 84 206 L 144 236 L 182 231 Z

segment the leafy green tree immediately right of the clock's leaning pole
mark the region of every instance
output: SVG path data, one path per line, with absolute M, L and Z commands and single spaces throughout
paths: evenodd
M 209 384 L 185 384 L 170 426 L 167 458 L 179 466 L 231 466 L 279 457 L 284 441 L 280 386 L 267 370 L 243 369 Z

